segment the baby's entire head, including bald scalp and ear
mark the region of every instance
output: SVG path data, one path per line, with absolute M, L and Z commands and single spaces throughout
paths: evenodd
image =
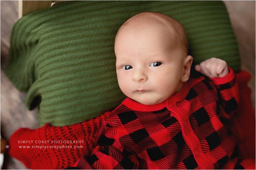
M 143 12 L 127 20 L 117 32 L 115 54 L 120 89 L 145 105 L 168 99 L 190 75 L 186 32 L 160 13 Z

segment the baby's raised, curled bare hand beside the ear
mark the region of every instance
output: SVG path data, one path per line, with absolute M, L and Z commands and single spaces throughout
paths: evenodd
M 195 69 L 212 78 L 224 77 L 228 74 L 226 61 L 214 57 L 201 62 L 200 65 L 196 65 Z

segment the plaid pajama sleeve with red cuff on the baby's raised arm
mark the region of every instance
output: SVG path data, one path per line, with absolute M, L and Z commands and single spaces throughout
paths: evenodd
M 229 73 L 226 76 L 210 78 L 217 86 L 217 113 L 219 112 L 220 116 L 224 119 L 231 119 L 235 115 L 239 103 L 236 77 L 233 70 L 230 67 L 228 69 Z

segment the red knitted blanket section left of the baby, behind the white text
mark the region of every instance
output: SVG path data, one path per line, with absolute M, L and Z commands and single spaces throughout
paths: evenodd
M 110 112 L 106 112 L 95 119 L 72 126 L 53 127 L 46 124 L 36 130 L 20 128 L 12 134 L 9 140 L 9 154 L 30 169 L 67 168 L 82 156 L 91 153 L 96 145 L 101 124 L 109 115 Z M 61 143 L 61 141 L 79 140 L 84 142 Z M 40 141 L 49 141 L 49 143 L 39 143 Z M 40 146 L 41 148 L 37 148 Z M 49 148 L 44 148 L 44 146 Z M 52 148 L 52 146 L 62 148 Z M 77 146 L 81 148 L 75 148 Z

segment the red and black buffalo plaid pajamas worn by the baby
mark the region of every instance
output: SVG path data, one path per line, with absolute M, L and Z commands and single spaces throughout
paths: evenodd
M 156 105 L 125 99 L 105 121 L 80 169 L 222 169 L 237 165 L 236 139 L 223 121 L 238 105 L 233 71 L 222 78 L 190 78 Z

